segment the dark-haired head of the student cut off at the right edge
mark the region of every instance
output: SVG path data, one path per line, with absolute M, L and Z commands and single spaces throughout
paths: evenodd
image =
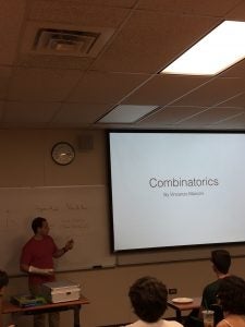
M 245 315 L 245 280 L 228 276 L 220 280 L 219 304 L 229 314 Z

